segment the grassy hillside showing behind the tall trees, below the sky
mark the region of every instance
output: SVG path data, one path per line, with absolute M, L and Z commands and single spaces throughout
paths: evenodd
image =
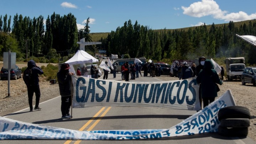
M 247 20 L 247 21 L 239 21 L 239 22 L 234 22 L 234 24 L 235 24 L 235 27 L 240 27 L 241 25 L 244 25 L 244 23 L 246 25 L 249 25 L 250 21 L 253 23 L 256 20 L 254 19 L 254 20 Z M 226 24 L 226 26 L 227 26 L 229 24 L 229 22 L 228 23 L 222 23 L 222 24 L 215 24 L 215 27 L 223 27 L 224 24 Z M 208 24 L 207 28 L 210 28 L 211 25 L 212 24 Z M 185 30 L 185 31 L 187 31 L 189 28 L 190 27 L 177 28 L 177 29 L 166 29 L 166 30 Z M 193 29 L 193 28 L 196 28 L 196 27 L 191 27 L 191 28 Z M 162 31 L 162 30 L 164 30 L 164 29 L 155 30 L 155 31 Z M 108 34 L 110 34 L 110 32 L 90 33 L 89 35 L 91 36 L 93 42 L 98 42 L 98 41 L 100 41 L 101 38 L 106 38 L 108 36 Z

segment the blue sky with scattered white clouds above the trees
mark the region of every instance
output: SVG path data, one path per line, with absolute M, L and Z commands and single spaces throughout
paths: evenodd
M 71 13 L 78 28 L 90 17 L 91 33 L 96 33 L 116 31 L 128 20 L 153 30 L 253 20 L 255 5 L 255 0 L 0 0 L 0 15 L 13 22 L 16 13 L 44 19 L 53 12 Z

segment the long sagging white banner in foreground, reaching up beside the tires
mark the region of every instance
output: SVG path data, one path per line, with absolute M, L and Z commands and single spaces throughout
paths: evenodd
M 230 90 L 203 110 L 193 114 L 169 129 L 141 130 L 96 130 L 78 131 L 21 122 L 0 117 L 0 139 L 60 139 L 60 140 L 114 140 L 114 139 L 155 139 L 218 132 L 218 111 L 234 106 Z

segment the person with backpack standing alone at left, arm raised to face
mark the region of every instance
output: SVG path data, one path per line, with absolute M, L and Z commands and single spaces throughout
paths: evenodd
M 40 87 L 39 87 L 39 79 L 38 74 L 42 75 L 43 70 L 36 65 L 34 60 L 28 61 L 28 67 L 23 73 L 23 80 L 27 86 L 28 91 L 28 104 L 30 106 L 30 111 L 33 111 L 33 95 L 36 95 L 36 105 L 34 110 L 40 111 L 42 108 L 39 108 L 39 101 L 40 101 Z

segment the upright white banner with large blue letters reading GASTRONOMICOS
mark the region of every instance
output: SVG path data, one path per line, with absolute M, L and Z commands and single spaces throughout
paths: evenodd
M 200 110 L 196 77 L 161 82 L 124 82 L 72 75 L 73 108 L 96 106 L 162 107 Z

